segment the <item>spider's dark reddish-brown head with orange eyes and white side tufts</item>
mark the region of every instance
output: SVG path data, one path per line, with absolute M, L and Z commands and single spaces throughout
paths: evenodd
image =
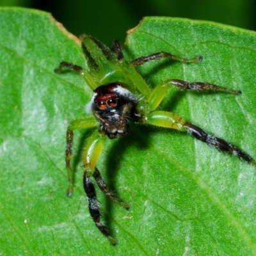
M 126 136 L 129 120 L 136 118 L 137 97 L 120 83 L 102 85 L 93 92 L 86 109 L 92 110 L 99 120 L 100 130 L 106 132 L 110 139 Z

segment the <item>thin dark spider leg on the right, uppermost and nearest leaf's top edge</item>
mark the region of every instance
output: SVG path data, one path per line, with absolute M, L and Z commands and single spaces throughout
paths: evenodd
M 191 62 L 198 62 L 198 61 L 202 61 L 203 58 L 202 56 L 198 56 L 196 58 L 193 59 L 186 59 L 186 58 L 180 58 L 179 56 L 175 56 L 170 52 L 156 52 L 154 54 L 150 54 L 147 56 L 141 56 L 140 58 L 136 58 L 135 60 L 132 60 L 130 63 L 134 66 L 140 66 L 143 65 L 144 63 L 148 62 L 148 61 L 153 61 L 153 60 L 161 60 L 164 58 L 168 58 L 171 60 L 177 60 L 177 61 L 181 61 L 184 63 L 191 63 Z

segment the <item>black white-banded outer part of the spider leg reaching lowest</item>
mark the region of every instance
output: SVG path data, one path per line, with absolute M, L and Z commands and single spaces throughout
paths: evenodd
M 102 232 L 104 236 L 108 237 L 111 244 L 116 245 L 116 240 L 110 235 L 108 227 L 106 227 L 102 222 L 100 222 L 100 210 L 97 201 L 95 187 L 93 185 L 92 179 L 87 175 L 87 173 L 84 173 L 83 183 L 84 191 L 88 198 L 89 211 L 96 227 L 99 228 L 100 232 Z

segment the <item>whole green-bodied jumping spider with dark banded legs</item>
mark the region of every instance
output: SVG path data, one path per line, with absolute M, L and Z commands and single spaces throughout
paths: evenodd
M 92 100 L 87 104 L 86 111 L 92 116 L 73 120 L 67 129 L 66 165 L 68 172 L 68 196 L 72 195 L 73 174 L 70 168 L 72 158 L 73 131 L 95 127 L 95 132 L 88 139 L 83 149 L 84 191 L 88 198 L 88 206 L 93 221 L 100 232 L 108 237 L 115 245 L 116 240 L 109 233 L 108 228 L 100 221 L 100 211 L 95 193 L 92 177 L 99 188 L 114 202 L 129 209 L 129 204 L 122 201 L 102 179 L 96 167 L 102 152 L 106 137 L 115 139 L 118 136 L 125 137 L 129 131 L 129 122 L 156 125 L 169 129 L 177 129 L 188 132 L 197 140 L 201 140 L 223 152 L 229 152 L 239 159 L 244 159 L 249 164 L 255 161 L 239 150 L 239 148 L 225 140 L 207 134 L 200 127 L 186 122 L 182 117 L 167 111 L 156 110 L 163 100 L 166 92 L 172 86 L 180 90 L 226 92 L 234 95 L 240 91 L 228 90 L 210 83 L 186 82 L 179 79 L 168 79 L 158 84 L 153 90 L 136 71 L 135 67 L 148 61 L 169 58 L 173 61 L 184 63 L 198 62 L 201 56 L 194 59 L 179 58 L 169 52 L 157 52 L 147 56 L 141 56 L 131 62 L 124 60 L 124 54 L 120 42 L 115 40 L 112 49 L 99 42 L 92 36 L 82 35 L 82 49 L 88 68 L 62 61 L 55 72 L 61 72 L 61 68 L 70 68 L 79 73 L 86 84 L 93 90 Z

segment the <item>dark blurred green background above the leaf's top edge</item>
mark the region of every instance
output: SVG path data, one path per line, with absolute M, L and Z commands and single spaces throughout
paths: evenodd
M 124 42 L 125 32 L 144 16 L 212 20 L 256 30 L 253 0 L 0 0 L 0 6 L 51 12 L 74 35 L 88 33 L 106 44 Z

